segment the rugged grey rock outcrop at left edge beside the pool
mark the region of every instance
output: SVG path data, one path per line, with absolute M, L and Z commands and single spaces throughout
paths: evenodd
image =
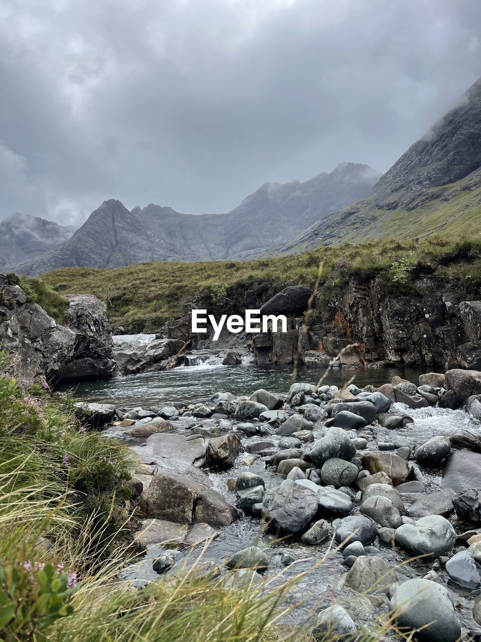
M 26 293 L 13 276 L 0 274 L 0 346 L 18 379 L 69 381 L 110 377 L 112 332 L 105 304 L 96 297 L 69 297 L 67 325 L 60 325 Z

